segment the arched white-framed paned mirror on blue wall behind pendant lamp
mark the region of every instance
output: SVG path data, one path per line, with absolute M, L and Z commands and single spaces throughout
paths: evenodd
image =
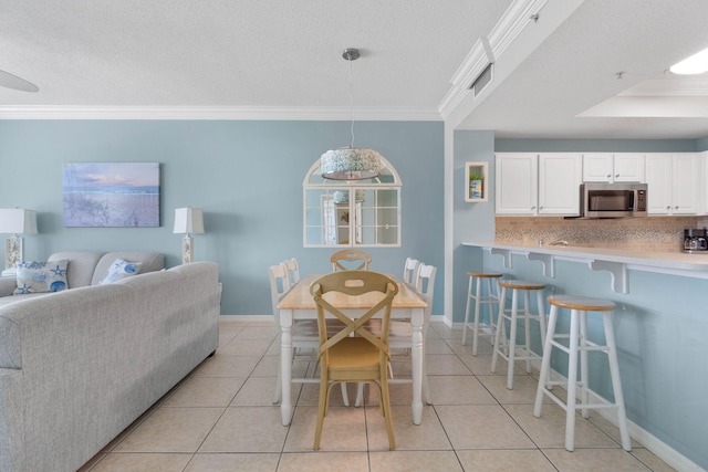
M 382 165 L 378 177 L 356 181 L 324 179 L 320 159 L 312 165 L 302 183 L 305 248 L 400 247 L 400 178 Z

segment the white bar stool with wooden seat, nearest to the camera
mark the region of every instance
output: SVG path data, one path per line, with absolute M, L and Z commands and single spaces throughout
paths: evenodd
M 624 407 L 624 397 L 622 395 L 622 385 L 620 384 L 620 368 L 617 364 L 617 349 L 615 346 L 615 335 L 612 328 L 612 313 L 615 310 L 613 302 L 590 298 L 585 296 L 574 295 L 552 295 L 546 298 L 551 305 L 549 316 L 549 331 L 545 336 L 543 348 L 543 361 L 541 363 L 541 376 L 539 377 L 539 388 L 535 394 L 535 406 L 533 416 L 541 416 L 541 406 L 543 394 L 548 395 L 561 408 L 565 410 L 565 449 L 573 450 L 575 437 L 575 410 L 582 411 L 583 418 L 590 416 L 589 409 L 614 408 L 617 410 L 617 424 L 620 426 L 620 437 L 622 439 L 622 448 L 625 451 L 632 450 L 629 441 L 629 432 L 627 430 L 627 417 Z M 559 335 L 555 333 L 555 324 L 558 321 L 558 310 L 568 308 L 571 311 L 571 327 L 568 335 Z M 605 346 L 601 346 L 587 339 L 587 312 L 601 312 L 603 315 L 603 325 L 605 328 Z M 569 346 L 565 347 L 556 339 L 569 339 Z M 551 381 L 551 350 L 553 347 L 568 353 L 568 381 Z M 598 402 L 591 403 L 590 389 L 587 388 L 587 352 L 600 350 L 607 354 L 610 360 L 610 376 L 612 378 L 612 389 L 614 392 L 614 403 L 600 398 L 593 392 L 593 397 Z M 580 376 L 577 381 L 577 353 L 580 352 Z M 549 387 L 554 385 L 568 385 L 568 402 L 556 397 Z M 580 402 L 575 398 L 576 388 L 580 386 Z

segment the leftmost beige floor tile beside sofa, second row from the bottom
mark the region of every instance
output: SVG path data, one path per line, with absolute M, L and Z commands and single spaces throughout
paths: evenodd
M 223 408 L 159 408 L 113 452 L 196 452 Z

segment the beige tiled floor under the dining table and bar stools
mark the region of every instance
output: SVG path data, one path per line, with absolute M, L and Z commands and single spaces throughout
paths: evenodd
M 532 416 L 533 376 L 517 367 L 514 389 L 508 390 L 503 360 L 497 375 L 490 373 L 486 340 L 472 357 L 460 331 L 431 327 L 426 347 L 435 405 L 424 407 L 423 424 L 414 426 L 410 386 L 392 385 L 396 451 L 388 451 L 376 399 L 346 408 L 335 389 L 322 448 L 314 452 L 316 385 L 294 388 L 290 427 L 271 403 L 280 348 L 275 327 L 221 322 L 217 355 L 82 471 L 673 470 L 636 442 L 632 452 L 623 451 L 617 429 L 597 415 L 579 418 L 575 452 L 565 451 L 564 411 L 546 402 L 541 419 Z M 396 363 L 394 369 L 403 375 L 406 367 Z M 353 399 L 355 386 L 350 387 Z

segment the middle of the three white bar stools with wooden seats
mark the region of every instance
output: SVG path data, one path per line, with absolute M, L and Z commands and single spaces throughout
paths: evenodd
M 541 356 L 531 350 L 531 321 L 539 322 L 541 333 L 541 346 L 545 344 L 545 313 L 543 311 L 543 290 L 544 284 L 534 282 L 524 282 L 518 280 L 499 281 L 501 286 L 501 301 L 499 303 L 499 318 L 497 322 L 497 333 L 494 335 L 494 353 L 491 357 L 491 371 L 497 371 L 497 358 L 503 357 L 509 363 L 507 369 L 507 388 L 513 388 L 513 366 L 517 360 L 527 361 L 527 373 L 531 373 L 531 360 L 541 360 Z M 511 290 L 511 310 L 506 307 L 507 290 Z M 519 292 L 523 292 L 523 307 L 519 308 Z M 530 293 L 537 295 L 537 313 L 530 310 Z M 506 344 L 506 326 L 504 319 L 509 319 L 509 344 Z M 517 324 L 523 319 L 524 342 L 520 346 L 521 350 L 517 354 Z M 502 338 L 504 345 L 502 346 Z

